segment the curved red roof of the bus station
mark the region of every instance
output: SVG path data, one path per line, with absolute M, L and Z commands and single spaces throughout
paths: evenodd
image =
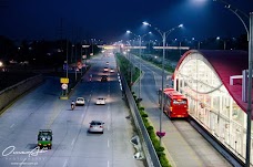
M 234 50 L 190 50 L 180 59 L 175 71 L 178 71 L 182 61 L 191 53 L 200 53 L 209 61 L 230 95 L 234 98 L 237 105 L 246 112 L 247 103 L 242 101 L 242 84 L 230 85 L 230 76 L 242 75 L 242 71 L 249 69 L 247 52 Z M 174 77 L 174 74 L 172 77 Z

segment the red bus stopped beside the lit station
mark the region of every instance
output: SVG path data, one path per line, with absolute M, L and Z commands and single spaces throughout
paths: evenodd
M 162 100 L 162 91 L 159 91 L 159 105 L 161 108 L 161 100 Z M 163 90 L 163 112 L 170 117 L 170 118 L 176 118 L 176 117 L 188 117 L 188 98 L 176 92 L 174 88 L 164 88 Z

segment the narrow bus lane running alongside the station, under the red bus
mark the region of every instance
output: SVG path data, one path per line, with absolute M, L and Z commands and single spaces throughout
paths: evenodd
M 160 129 L 160 109 L 156 91 L 162 86 L 161 69 L 145 61 L 140 61 L 131 54 L 133 64 L 141 70 L 141 105 L 144 106 L 149 115 L 149 119 L 156 131 Z M 170 75 L 165 73 L 165 76 Z M 169 81 L 164 79 L 164 87 Z M 133 85 L 133 90 L 139 97 L 139 83 Z M 162 132 L 165 132 L 165 137 L 162 138 L 162 144 L 165 147 L 168 158 L 173 167 L 229 167 L 232 166 L 226 159 L 199 134 L 192 125 L 186 121 L 170 121 L 162 113 Z

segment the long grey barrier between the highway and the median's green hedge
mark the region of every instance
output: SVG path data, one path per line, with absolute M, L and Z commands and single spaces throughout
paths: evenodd
M 123 91 L 128 98 L 129 107 L 130 107 L 134 124 L 138 128 L 138 132 L 140 133 L 140 138 L 141 138 L 141 143 L 142 143 L 143 152 L 145 154 L 146 163 L 148 163 L 149 167 L 161 167 L 159 157 L 158 157 L 155 149 L 153 147 L 153 144 L 150 139 L 149 133 L 143 124 L 142 117 L 138 109 L 136 103 L 133 98 L 133 95 L 126 84 L 124 76 L 122 76 L 122 75 L 120 75 L 120 76 L 121 76 L 121 81 L 122 81 L 122 87 L 123 87 Z

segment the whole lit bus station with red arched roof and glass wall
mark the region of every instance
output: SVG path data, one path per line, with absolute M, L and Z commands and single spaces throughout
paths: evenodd
M 190 116 L 242 161 L 247 124 L 247 77 L 243 71 L 247 69 L 244 51 L 190 50 L 172 76 L 174 90 L 188 97 Z M 251 132 L 251 154 L 252 136 Z

